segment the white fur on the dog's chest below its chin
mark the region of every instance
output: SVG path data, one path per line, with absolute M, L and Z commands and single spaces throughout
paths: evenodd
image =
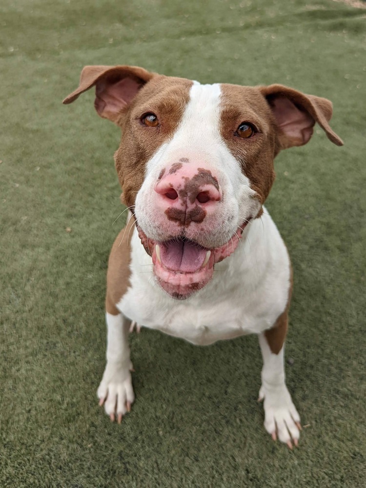
M 287 250 L 264 210 L 246 227 L 235 252 L 215 265 L 212 280 L 184 301 L 172 299 L 155 282 L 152 260 L 136 235 L 131 287 L 118 308 L 139 325 L 208 345 L 271 327 L 285 309 L 289 285 Z

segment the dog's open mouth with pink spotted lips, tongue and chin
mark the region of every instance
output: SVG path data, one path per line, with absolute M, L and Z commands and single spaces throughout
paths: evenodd
M 222 246 L 208 248 L 195 241 L 175 236 L 166 241 L 149 239 L 137 224 L 145 251 L 152 257 L 153 272 L 158 284 L 172 298 L 185 300 L 211 280 L 214 265 L 237 248 L 246 221 Z

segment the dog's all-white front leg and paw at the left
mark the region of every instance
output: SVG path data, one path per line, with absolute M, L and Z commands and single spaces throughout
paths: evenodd
M 106 313 L 107 322 L 107 364 L 103 378 L 98 388 L 99 404 L 104 404 L 105 413 L 113 422 L 118 423 L 131 409 L 135 399 L 132 388 L 130 349 L 128 346 L 128 331 L 130 320 L 122 313 L 112 315 Z

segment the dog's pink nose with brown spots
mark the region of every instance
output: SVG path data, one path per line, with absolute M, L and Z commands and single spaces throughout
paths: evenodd
M 181 225 L 201 223 L 222 200 L 217 178 L 209 169 L 194 163 L 174 163 L 162 170 L 154 190 L 158 208 L 170 221 Z

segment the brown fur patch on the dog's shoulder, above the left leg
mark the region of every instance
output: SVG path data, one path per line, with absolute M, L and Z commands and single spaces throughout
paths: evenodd
M 130 244 L 134 232 L 135 218 L 132 217 L 118 234 L 109 255 L 105 308 L 112 315 L 120 313 L 116 304 L 121 300 L 130 285 Z

